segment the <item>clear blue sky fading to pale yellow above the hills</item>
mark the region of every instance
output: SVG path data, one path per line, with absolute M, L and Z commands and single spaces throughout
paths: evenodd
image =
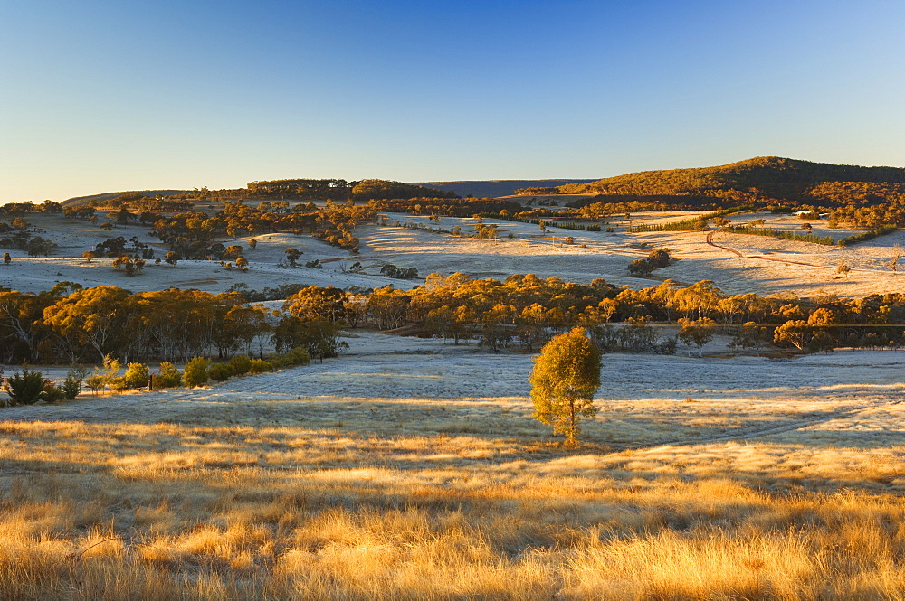
M 905 165 L 901 0 L 0 0 L 0 202 Z

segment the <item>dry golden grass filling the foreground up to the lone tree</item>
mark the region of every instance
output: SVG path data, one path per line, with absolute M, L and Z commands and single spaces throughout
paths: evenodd
M 0 598 L 905 598 L 880 397 L 159 399 L 0 414 Z

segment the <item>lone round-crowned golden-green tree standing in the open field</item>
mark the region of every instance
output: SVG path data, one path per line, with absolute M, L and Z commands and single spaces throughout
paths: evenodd
M 576 445 L 578 420 L 597 413 L 594 393 L 600 388 L 601 355 L 579 327 L 554 336 L 534 360 L 528 377 L 534 418 L 565 436 L 567 446 Z

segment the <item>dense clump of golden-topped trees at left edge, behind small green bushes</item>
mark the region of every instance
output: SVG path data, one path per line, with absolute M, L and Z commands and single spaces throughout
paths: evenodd
M 4 362 L 187 361 L 236 352 L 261 356 L 296 347 L 312 356 L 338 352 L 338 324 L 248 305 L 238 293 L 160 290 L 64 282 L 42 294 L 0 293 Z

